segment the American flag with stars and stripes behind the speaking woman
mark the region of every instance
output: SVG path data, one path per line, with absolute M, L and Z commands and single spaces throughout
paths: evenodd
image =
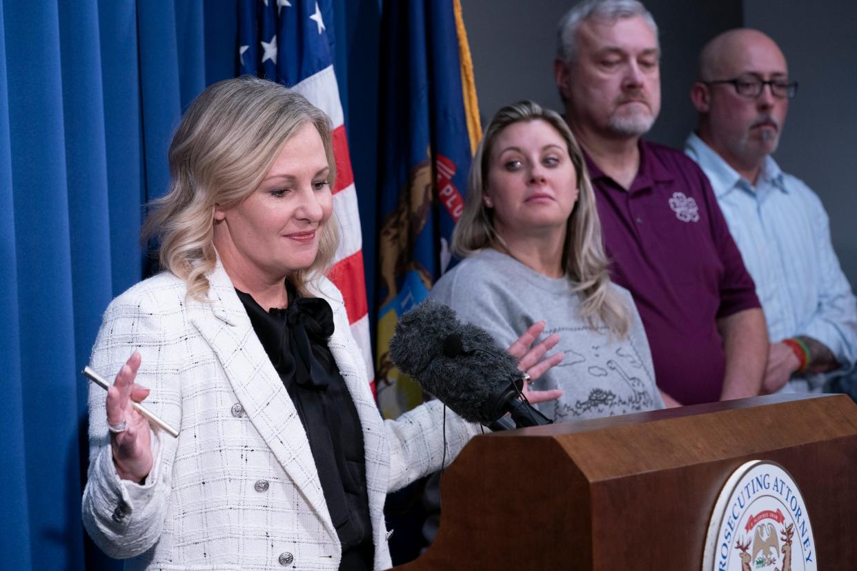
M 351 334 L 363 351 L 369 384 L 374 390 L 363 235 L 332 54 L 333 6 L 329 0 L 241 0 L 239 3 L 239 72 L 292 87 L 327 113 L 333 122 L 337 165 L 333 215 L 339 223 L 340 236 L 335 264 L 328 277 L 345 298 Z

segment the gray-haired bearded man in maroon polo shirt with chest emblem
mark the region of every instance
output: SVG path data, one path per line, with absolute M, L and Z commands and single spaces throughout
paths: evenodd
M 752 278 L 709 181 L 641 139 L 661 107 L 654 19 L 586 0 L 560 21 L 554 76 L 596 189 L 614 282 L 637 303 L 668 405 L 758 395 L 768 354 Z

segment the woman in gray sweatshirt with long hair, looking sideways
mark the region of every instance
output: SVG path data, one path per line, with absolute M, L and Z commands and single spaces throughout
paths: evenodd
M 562 360 L 534 389 L 557 422 L 664 407 L 631 295 L 610 282 L 595 195 L 566 122 L 522 101 L 498 111 L 470 168 L 452 235 L 464 258 L 431 297 L 506 347 L 532 324 L 558 334 Z

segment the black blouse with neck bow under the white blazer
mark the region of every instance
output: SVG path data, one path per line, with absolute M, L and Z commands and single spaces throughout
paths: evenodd
M 326 300 L 305 298 L 286 281 L 289 306 L 267 312 L 236 289 L 309 438 L 327 509 L 342 544 L 340 569 L 371 569 L 375 555 L 363 429 L 327 338 L 333 311 Z

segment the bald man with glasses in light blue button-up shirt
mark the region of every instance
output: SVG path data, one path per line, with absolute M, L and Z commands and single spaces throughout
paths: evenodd
M 821 390 L 823 373 L 857 360 L 857 301 L 818 196 L 770 157 L 797 83 L 776 43 L 751 29 L 712 39 L 699 78 L 685 152 L 708 175 L 756 283 L 771 342 L 763 392 Z

